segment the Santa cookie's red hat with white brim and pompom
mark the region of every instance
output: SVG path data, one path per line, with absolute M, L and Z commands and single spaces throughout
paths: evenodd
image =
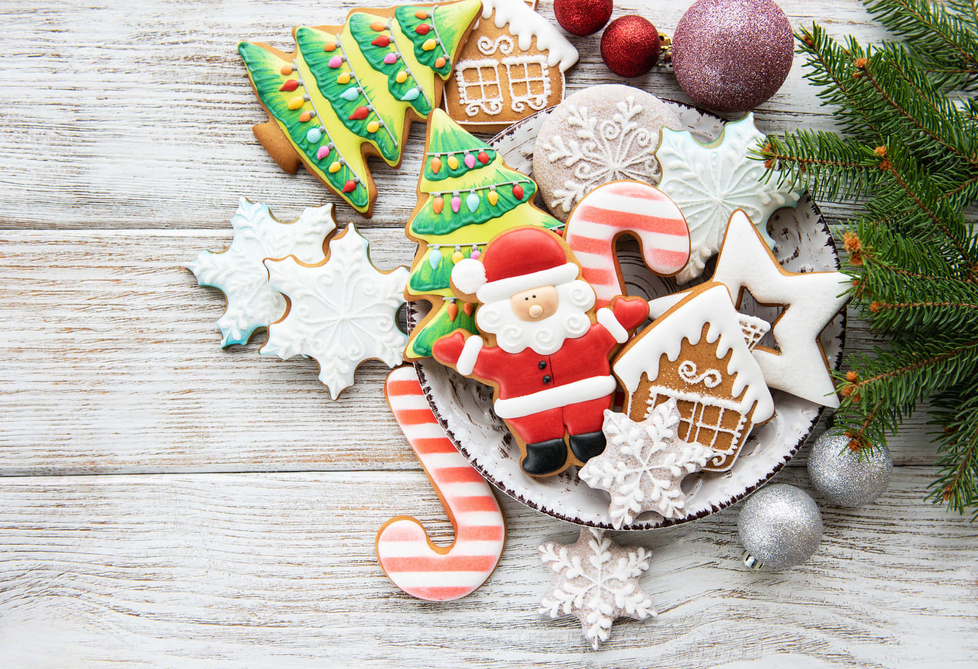
M 559 238 L 544 228 L 513 228 L 495 237 L 478 260 L 452 268 L 457 290 L 474 293 L 483 304 L 509 299 L 522 290 L 557 286 L 577 279 L 580 268 L 567 260 Z

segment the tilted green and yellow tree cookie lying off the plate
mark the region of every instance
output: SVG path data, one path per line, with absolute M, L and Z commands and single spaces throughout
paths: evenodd
M 400 165 L 408 126 L 438 106 L 479 9 L 478 0 L 357 9 L 343 25 L 296 27 L 291 54 L 241 42 L 269 117 L 255 136 L 285 171 L 304 164 L 369 217 L 377 189 L 367 157 Z

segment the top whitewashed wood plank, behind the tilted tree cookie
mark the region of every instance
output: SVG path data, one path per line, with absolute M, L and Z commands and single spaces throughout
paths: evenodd
M 380 0 L 378 6 L 393 4 Z M 541 12 L 553 19 L 552 3 Z M 635 0 L 639 13 L 671 32 L 689 3 Z M 858 0 L 782 0 L 793 25 L 815 20 L 837 35 L 878 39 Z M 265 120 L 235 49 L 240 39 L 290 51 L 295 23 L 341 22 L 349 3 L 283 0 L 106 0 L 41 7 L 7 0 L 0 70 L 0 227 L 222 228 L 238 195 L 273 205 L 312 205 L 332 196 L 313 177 L 282 173 L 251 134 Z M 618 82 L 600 59 L 597 36 L 572 37 L 581 63 L 568 89 Z M 758 110 L 767 131 L 832 127 L 795 59 L 784 87 Z M 668 72 L 629 81 L 688 100 Z M 377 166 L 374 225 L 400 227 L 415 203 L 422 125 L 400 172 Z M 851 207 L 826 205 L 830 217 Z M 353 216 L 342 206 L 343 216 Z

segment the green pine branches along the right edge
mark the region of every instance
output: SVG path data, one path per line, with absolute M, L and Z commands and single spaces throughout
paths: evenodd
M 851 308 L 886 340 L 835 375 L 836 431 L 872 453 L 931 398 L 930 499 L 978 517 L 978 0 L 864 0 L 902 42 L 797 33 L 805 77 L 841 133 L 771 135 L 769 179 L 858 201 L 844 234 Z

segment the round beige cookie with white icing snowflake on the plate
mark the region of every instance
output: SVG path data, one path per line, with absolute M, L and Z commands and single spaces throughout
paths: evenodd
M 537 136 L 533 172 L 551 213 L 566 222 L 601 184 L 661 177 L 659 130 L 681 129 L 679 117 L 653 95 L 631 86 L 592 86 L 564 100 Z

